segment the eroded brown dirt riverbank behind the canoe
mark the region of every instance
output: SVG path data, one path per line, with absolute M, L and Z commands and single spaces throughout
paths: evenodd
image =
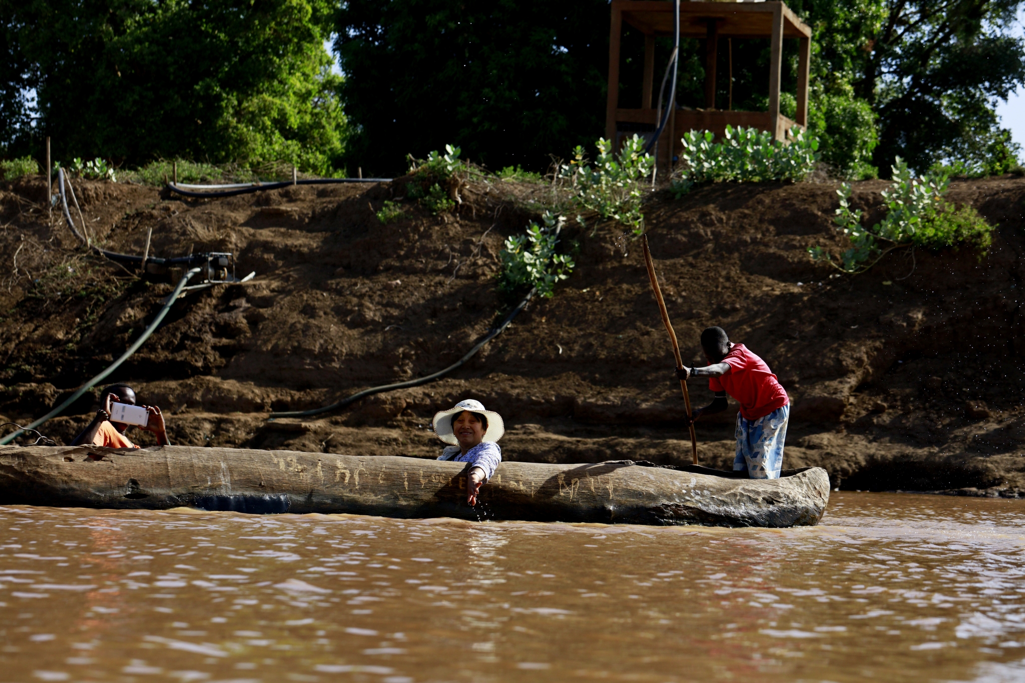
M 855 205 L 877 219 L 878 181 Z M 955 181 L 950 198 L 998 223 L 989 254 L 894 255 L 829 279 L 806 248 L 836 244 L 835 185 L 717 185 L 649 205 L 648 230 L 685 358 L 721 325 L 765 357 L 793 399 L 786 466 L 821 465 L 843 488 L 1025 492 L 1020 305 L 1025 180 Z M 474 397 L 506 416 L 509 460 L 689 458 L 671 354 L 638 250 L 621 229 L 574 228 L 577 268 L 465 368 L 335 415 L 266 422 L 459 357 L 507 305 L 495 292 L 502 240 L 550 200 L 545 185 L 474 184 L 452 214 L 403 185 L 299 186 L 225 200 L 84 182 L 82 211 L 107 248 L 176 256 L 232 251 L 245 286 L 193 294 L 118 373 L 168 413 L 174 442 L 435 457 L 427 426 Z M 76 255 L 51 231 L 39 181 L 0 189 L 0 414 L 43 414 L 130 343 L 167 282 Z M 572 223 L 572 221 L 571 221 Z M 38 281 L 38 282 L 37 282 Z M 692 389 L 698 404 L 710 393 Z M 47 425 L 67 442 L 92 409 Z M 732 418 L 698 428 L 702 464 L 732 460 Z M 147 443 L 146 437 L 138 439 Z

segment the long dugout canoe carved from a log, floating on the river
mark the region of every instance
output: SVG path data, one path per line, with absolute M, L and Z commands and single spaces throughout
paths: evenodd
M 12 445 L 0 447 L 0 504 L 781 527 L 818 523 L 829 502 L 822 468 L 784 470 L 774 480 L 731 474 L 632 461 L 504 462 L 473 508 L 464 463 L 180 445 Z

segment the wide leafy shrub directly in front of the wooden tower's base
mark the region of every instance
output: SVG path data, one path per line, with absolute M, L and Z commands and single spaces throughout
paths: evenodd
M 773 140 L 768 131 L 726 127 L 720 141 L 711 131 L 684 133 L 682 177 L 671 189 L 679 198 L 705 182 L 798 181 L 808 177 L 819 159 L 819 142 L 794 126 L 788 142 Z

